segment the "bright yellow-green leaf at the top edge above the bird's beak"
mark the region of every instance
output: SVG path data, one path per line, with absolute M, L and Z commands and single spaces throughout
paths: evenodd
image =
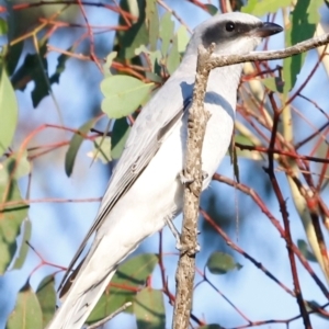
M 270 12 L 275 13 L 279 9 L 288 7 L 291 3 L 291 0 L 249 0 L 241 8 L 241 11 L 256 16 L 263 16 Z

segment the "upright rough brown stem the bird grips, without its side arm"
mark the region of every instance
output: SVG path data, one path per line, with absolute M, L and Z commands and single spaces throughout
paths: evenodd
M 193 283 L 195 274 L 195 253 L 197 245 L 197 217 L 200 194 L 202 192 L 202 145 L 208 113 L 204 110 L 204 95 L 206 92 L 209 69 L 206 61 L 213 48 L 206 50 L 198 48 L 193 103 L 190 107 L 188 122 L 188 143 L 184 178 L 184 207 L 183 228 L 181 235 L 181 252 L 175 273 L 177 298 L 173 310 L 172 328 L 184 329 L 189 327 L 192 309 Z

